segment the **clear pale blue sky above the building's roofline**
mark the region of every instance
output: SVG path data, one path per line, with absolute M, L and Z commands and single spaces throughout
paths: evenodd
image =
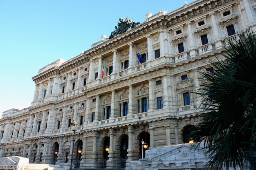
M 189 3 L 194 0 L 186 0 Z M 87 51 L 119 18 L 144 22 L 184 0 L 0 0 L 0 115 L 31 105 L 38 70 Z

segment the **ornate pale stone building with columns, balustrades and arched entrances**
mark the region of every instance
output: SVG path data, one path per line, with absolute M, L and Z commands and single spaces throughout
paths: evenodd
M 198 72 L 213 71 L 207 64 L 225 53 L 225 38 L 256 31 L 255 10 L 256 0 L 198 0 L 147 13 L 126 32 L 41 68 L 31 106 L 0 119 L 0 157 L 70 164 L 73 119 L 75 167 L 129 169 L 145 155 L 142 140 L 148 149 L 187 143 L 202 113 Z

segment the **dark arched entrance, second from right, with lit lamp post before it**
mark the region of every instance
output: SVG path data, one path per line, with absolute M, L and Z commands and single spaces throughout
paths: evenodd
M 150 134 L 148 132 L 141 132 L 138 136 L 139 139 L 139 158 L 145 158 L 145 152 L 150 147 Z

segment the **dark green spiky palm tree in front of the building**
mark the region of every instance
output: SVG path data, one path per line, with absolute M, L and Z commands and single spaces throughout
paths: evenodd
M 197 92 L 206 113 L 191 133 L 197 139 L 191 149 L 203 142 L 211 169 L 243 169 L 247 161 L 256 169 L 256 37 L 247 32 L 227 42 L 225 60 L 210 62 L 212 73 L 200 73 L 209 82 Z

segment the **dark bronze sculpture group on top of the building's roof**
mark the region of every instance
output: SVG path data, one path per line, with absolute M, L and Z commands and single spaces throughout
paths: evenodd
M 112 31 L 109 39 L 114 38 L 114 36 L 117 36 L 117 34 L 121 34 L 126 32 L 129 28 L 133 29 L 135 28 L 139 22 L 132 21 L 132 18 L 128 20 L 128 16 L 126 17 L 126 20 L 124 21 L 124 18 L 119 18 L 120 22 L 117 22 L 117 26 L 115 26 L 115 31 Z

